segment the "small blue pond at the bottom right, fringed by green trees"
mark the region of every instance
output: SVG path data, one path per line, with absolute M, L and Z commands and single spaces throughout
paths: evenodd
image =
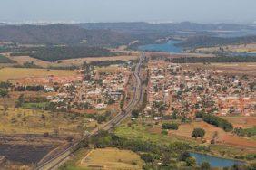
M 208 156 L 199 153 L 190 153 L 190 156 L 196 158 L 196 163 L 201 165 L 203 162 L 208 162 L 211 164 L 212 167 L 227 167 L 232 165 L 242 165 L 244 162 L 226 159 L 222 157 L 215 157 L 215 156 Z

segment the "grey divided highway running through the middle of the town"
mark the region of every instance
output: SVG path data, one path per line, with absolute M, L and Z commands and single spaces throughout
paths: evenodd
M 118 115 L 116 115 L 113 119 L 111 119 L 109 122 L 103 125 L 100 129 L 103 130 L 110 130 L 111 128 L 119 125 L 123 119 L 130 116 L 133 109 L 135 109 L 138 104 L 140 104 L 143 101 L 143 84 L 142 79 L 140 77 L 141 72 L 141 66 L 142 62 L 144 60 L 144 54 L 142 53 L 142 56 L 140 57 L 139 62 L 137 63 L 135 67 L 135 71 L 133 71 L 133 77 L 136 80 L 135 86 L 133 88 L 133 98 L 130 100 L 128 105 L 123 109 L 122 112 L 120 112 Z M 94 129 L 88 137 L 94 136 L 99 132 L 98 128 Z M 40 165 L 37 165 L 35 168 L 36 170 L 54 170 L 57 169 L 60 165 L 63 165 L 66 160 L 68 160 L 69 156 L 71 156 L 75 150 L 79 149 L 81 144 L 83 143 L 84 138 L 82 138 L 80 141 L 74 143 L 74 145 L 68 147 L 63 152 L 59 153 L 58 155 L 50 158 L 48 161 L 41 163 Z

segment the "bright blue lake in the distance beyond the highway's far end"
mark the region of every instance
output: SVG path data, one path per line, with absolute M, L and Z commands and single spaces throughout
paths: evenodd
M 150 51 L 150 52 L 172 52 L 180 53 L 183 51 L 182 47 L 177 47 L 175 44 L 182 41 L 171 40 L 163 44 L 149 44 L 139 46 L 140 51 Z

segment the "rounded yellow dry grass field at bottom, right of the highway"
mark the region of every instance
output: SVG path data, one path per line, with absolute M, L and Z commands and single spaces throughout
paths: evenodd
M 81 161 L 86 169 L 132 170 L 142 169 L 143 160 L 129 150 L 117 148 L 94 149 Z

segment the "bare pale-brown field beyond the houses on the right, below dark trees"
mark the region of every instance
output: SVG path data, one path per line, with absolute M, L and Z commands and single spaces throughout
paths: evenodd
M 217 71 L 220 74 L 231 74 L 231 75 L 250 75 L 256 77 L 256 63 L 211 63 L 205 65 L 203 63 L 188 63 L 182 64 L 184 69 L 208 69 Z

